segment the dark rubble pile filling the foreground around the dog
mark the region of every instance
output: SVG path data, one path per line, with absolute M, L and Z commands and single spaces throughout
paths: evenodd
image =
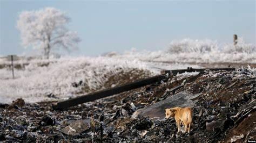
M 0 141 L 240 142 L 256 139 L 255 73 L 244 68 L 206 70 L 181 80 L 176 78 L 166 78 L 64 111 L 52 110 L 53 102 L 28 104 L 18 99 L 11 105 L 1 104 Z M 181 97 L 174 98 L 176 96 L 188 97 L 187 104 L 194 111 L 190 134 L 177 133 L 174 119 L 164 119 L 163 107 L 180 104 Z

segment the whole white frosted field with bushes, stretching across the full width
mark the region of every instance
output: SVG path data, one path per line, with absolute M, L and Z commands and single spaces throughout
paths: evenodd
M 125 74 L 143 70 L 150 73 L 142 75 L 147 77 L 159 74 L 162 69 L 203 68 L 198 63 L 256 63 L 256 47 L 239 41 L 233 46 L 211 40 L 183 39 L 174 40 L 167 49 L 157 52 L 132 50 L 98 57 L 15 61 L 27 65 L 15 69 L 15 79 L 10 68 L 0 68 L 0 102 L 10 103 L 17 98 L 26 102 L 51 100 L 49 94 L 59 99 L 78 96 L 77 93 L 104 89 L 109 78 L 121 71 Z M 10 61 L 0 59 L 0 65 L 9 64 Z M 72 86 L 79 81 L 83 81 L 83 87 Z M 86 91 L 82 89 L 85 87 Z

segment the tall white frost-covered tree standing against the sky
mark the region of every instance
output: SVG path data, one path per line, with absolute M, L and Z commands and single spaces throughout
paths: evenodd
M 65 27 L 69 21 L 64 12 L 55 8 L 21 12 L 17 28 L 21 31 L 22 45 L 43 49 L 47 59 L 53 48 L 63 47 L 68 51 L 77 48 L 80 41 L 77 32 Z

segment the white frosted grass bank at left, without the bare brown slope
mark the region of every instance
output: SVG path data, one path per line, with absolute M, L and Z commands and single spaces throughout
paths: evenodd
M 50 62 L 48 66 L 38 66 L 38 62 Z M 80 88 L 72 86 L 73 82 L 83 81 L 89 88 L 87 91 L 103 87 L 108 77 L 120 70 L 147 70 L 146 65 L 139 61 L 118 60 L 112 58 L 68 58 L 55 60 L 31 61 L 24 70 L 15 70 L 15 79 L 11 71 L 0 70 L 0 99 L 10 103 L 22 97 L 26 102 L 38 102 L 48 99 L 52 93 L 57 97 L 69 97 Z M 152 73 L 153 74 L 153 73 Z

